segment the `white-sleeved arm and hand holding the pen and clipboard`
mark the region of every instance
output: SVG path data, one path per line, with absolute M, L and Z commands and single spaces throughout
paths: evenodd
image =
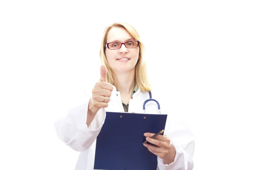
M 169 112 L 170 103 L 168 100 L 161 100 L 161 91 L 152 92 L 153 98 L 157 99 L 161 106 L 161 112 L 167 114 L 164 135 L 159 135 L 154 139 L 146 138 L 148 143 L 144 145 L 151 153 L 157 155 L 157 170 L 192 170 L 194 167 L 193 155 L 195 149 L 195 137 L 186 123 L 175 119 L 174 113 Z M 162 98 L 163 99 L 163 98 Z M 167 101 L 167 102 L 164 102 Z M 152 111 L 155 107 L 152 106 Z M 150 137 L 153 134 L 144 134 Z M 157 145 L 154 146 L 152 144 Z

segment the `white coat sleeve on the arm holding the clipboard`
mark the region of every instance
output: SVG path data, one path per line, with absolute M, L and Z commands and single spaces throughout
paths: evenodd
M 192 170 L 194 167 L 193 154 L 195 138 L 186 123 L 175 120 L 168 115 L 166 122 L 166 135 L 171 139 L 175 150 L 175 160 L 171 164 L 164 164 L 163 159 L 158 157 L 159 170 Z

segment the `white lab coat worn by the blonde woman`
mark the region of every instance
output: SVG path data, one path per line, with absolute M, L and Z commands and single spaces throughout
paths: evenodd
M 168 114 L 165 134 L 172 140 L 176 149 L 175 161 L 169 165 L 163 164 L 163 160 L 158 157 L 157 170 L 192 170 L 194 163 L 192 157 L 194 154 L 195 139 L 192 132 L 184 123 L 181 123 L 164 111 L 161 100 L 157 98 L 157 93 L 151 91 L 152 98 L 160 104 L 162 114 Z M 96 137 L 98 136 L 105 121 L 106 111 L 124 112 L 120 92 L 113 86 L 111 101 L 107 108 L 101 108 L 93 122 L 87 127 L 87 108 L 91 93 L 84 91 L 81 96 L 75 99 L 73 106 L 68 110 L 67 115 L 55 122 L 55 129 L 58 138 L 73 150 L 79 151 L 79 159 L 75 170 L 93 170 L 94 157 L 96 150 Z M 143 113 L 143 102 L 149 99 L 148 92 L 142 92 L 140 89 L 133 95 L 129 101 L 128 112 Z M 158 113 L 157 103 L 149 101 L 145 105 L 145 113 Z M 149 152 L 149 151 L 148 151 Z M 136 154 L 136 151 L 134 151 Z

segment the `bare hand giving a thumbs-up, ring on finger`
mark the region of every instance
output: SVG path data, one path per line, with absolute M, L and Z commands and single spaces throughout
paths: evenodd
M 107 71 L 104 65 L 100 68 L 100 79 L 95 83 L 92 90 L 92 101 L 91 110 L 96 110 L 100 108 L 107 108 L 108 102 L 110 102 L 111 92 L 113 91 L 113 85 L 109 84 L 107 81 Z M 89 106 L 90 107 L 90 106 Z

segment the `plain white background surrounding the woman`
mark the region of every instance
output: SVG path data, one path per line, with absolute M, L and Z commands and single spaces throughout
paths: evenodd
M 54 121 L 99 79 L 105 26 L 131 23 L 152 85 L 196 137 L 195 170 L 255 166 L 256 6 L 247 0 L 0 2 L 1 170 L 73 170 Z

